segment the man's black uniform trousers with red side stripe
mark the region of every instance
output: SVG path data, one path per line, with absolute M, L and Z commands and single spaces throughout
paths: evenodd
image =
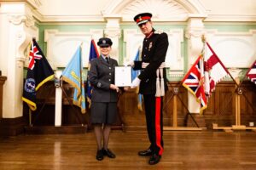
M 163 142 L 163 97 L 154 94 L 143 94 L 145 115 L 150 149 L 157 155 L 162 155 Z

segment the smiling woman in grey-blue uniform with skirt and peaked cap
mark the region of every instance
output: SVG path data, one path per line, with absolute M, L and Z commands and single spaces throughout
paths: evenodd
M 111 39 L 102 37 L 97 42 L 101 55 L 90 61 L 89 81 L 92 85 L 90 121 L 94 125 L 97 151 L 96 159 L 102 161 L 103 156 L 115 158 L 108 149 L 111 124 L 117 116 L 117 99 L 119 88 L 114 85 L 114 67 L 117 60 L 110 58 Z M 103 137 L 103 147 L 102 147 Z

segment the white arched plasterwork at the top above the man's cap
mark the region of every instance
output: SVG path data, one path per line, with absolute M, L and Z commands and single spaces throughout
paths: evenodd
M 156 21 L 185 21 L 189 14 L 207 14 L 196 0 L 117 0 L 102 10 L 103 15 L 121 15 L 123 21 L 131 21 L 135 14 L 143 12 L 154 14 Z

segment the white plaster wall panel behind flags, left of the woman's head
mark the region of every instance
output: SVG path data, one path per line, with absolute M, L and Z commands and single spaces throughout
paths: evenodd
M 103 36 L 102 30 L 89 32 L 61 32 L 45 30 L 44 42 L 47 42 L 47 57 L 55 67 L 66 67 L 79 45 L 82 44 L 83 66 L 88 66 L 91 39 L 98 40 Z

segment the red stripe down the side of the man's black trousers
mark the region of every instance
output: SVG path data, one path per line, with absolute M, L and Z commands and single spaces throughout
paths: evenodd
M 155 98 L 155 136 L 156 145 L 160 148 L 159 155 L 161 156 L 164 149 L 161 146 L 161 127 L 160 127 L 160 111 L 161 111 L 161 97 Z

